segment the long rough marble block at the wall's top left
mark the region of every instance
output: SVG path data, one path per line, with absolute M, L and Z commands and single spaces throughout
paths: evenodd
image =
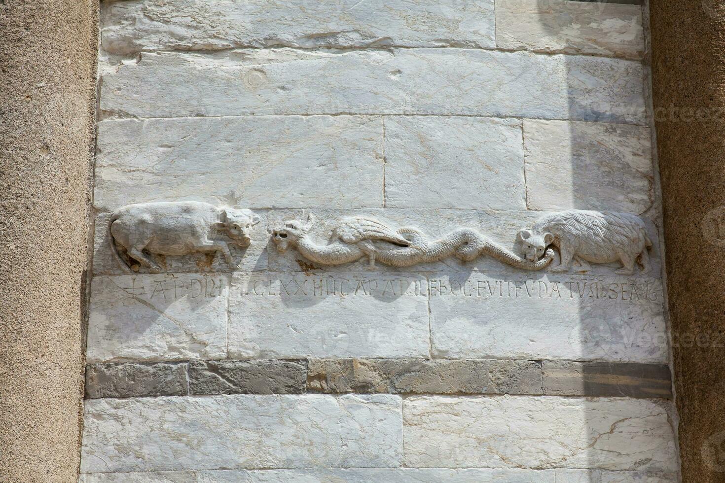
M 405 0 L 101 3 L 101 47 L 112 54 L 270 46 L 493 48 L 494 3 L 493 0 L 446 5 L 435 0 L 415 4 Z

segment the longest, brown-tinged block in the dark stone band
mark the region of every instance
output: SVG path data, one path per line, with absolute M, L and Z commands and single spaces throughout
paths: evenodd
M 307 387 L 320 392 L 542 394 L 534 361 L 312 359 Z

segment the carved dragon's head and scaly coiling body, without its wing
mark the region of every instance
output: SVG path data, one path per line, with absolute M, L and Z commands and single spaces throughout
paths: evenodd
M 302 256 L 320 265 L 347 264 L 369 256 L 368 251 L 360 249 L 357 244 L 334 240 L 328 245 L 318 245 L 310 239 L 307 232 L 291 237 L 291 240 L 287 240 L 286 236 L 284 239 L 279 238 L 281 232 L 285 230 L 276 230 L 274 239 L 278 247 L 281 247 L 281 251 L 286 250 L 288 241 L 292 242 L 297 245 L 297 250 Z M 410 245 L 396 246 L 386 243 L 381 247 L 378 244 L 375 247 L 376 261 L 391 266 L 412 266 L 440 261 L 449 256 L 455 256 L 462 261 L 472 261 L 481 255 L 489 255 L 519 269 L 541 270 L 554 259 L 554 251 L 549 249 L 539 261 L 526 261 L 495 245 L 470 228 L 459 228 L 433 241 L 429 241 L 427 236 L 415 227 L 402 227 L 395 232 L 410 240 Z

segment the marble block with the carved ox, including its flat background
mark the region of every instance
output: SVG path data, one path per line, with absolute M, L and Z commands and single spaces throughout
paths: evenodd
M 96 217 L 94 274 L 267 267 L 265 211 L 199 201 L 141 203 Z

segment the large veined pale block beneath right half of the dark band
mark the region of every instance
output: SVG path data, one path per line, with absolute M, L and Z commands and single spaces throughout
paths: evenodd
M 630 398 L 413 396 L 403 405 L 405 465 L 676 471 L 669 408 Z

